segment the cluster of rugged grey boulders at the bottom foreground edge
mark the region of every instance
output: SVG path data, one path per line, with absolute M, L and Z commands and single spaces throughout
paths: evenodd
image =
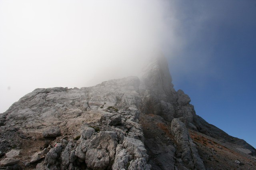
M 99 131 L 81 127 L 78 142 L 62 140 L 46 155 L 44 169 L 133 169 L 149 170 L 148 155 L 141 140 L 122 131 Z

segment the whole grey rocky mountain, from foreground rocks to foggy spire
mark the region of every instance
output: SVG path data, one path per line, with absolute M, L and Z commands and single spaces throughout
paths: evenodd
M 197 116 L 189 103 L 188 95 L 173 88 L 162 56 L 152 59 L 140 78 L 114 79 L 81 89 L 35 89 L 0 114 L 0 151 L 17 148 L 21 153 L 9 164 L 14 158 L 2 156 L 1 166 L 201 170 L 214 166 L 206 153 L 212 155 L 215 145 L 243 156 L 256 154 L 244 140 Z M 210 143 L 200 143 L 201 138 L 209 139 L 214 150 L 203 146 Z M 256 165 L 252 162 L 241 166 Z M 234 160 L 228 167 L 236 165 Z

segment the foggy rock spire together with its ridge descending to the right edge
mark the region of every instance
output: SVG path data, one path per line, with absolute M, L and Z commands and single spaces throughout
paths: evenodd
M 166 121 L 178 118 L 186 127 L 207 134 L 211 137 L 238 144 L 256 155 L 256 149 L 244 140 L 234 138 L 223 130 L 210 125 L 196 115 L 194 106 L 190 105 L 190 97 L 182 90 L 177 92 L 172 85 L 167 60 L 163 56 L 152 59 L 140 77 L 141 111 L 148 114 L 160 115 Z

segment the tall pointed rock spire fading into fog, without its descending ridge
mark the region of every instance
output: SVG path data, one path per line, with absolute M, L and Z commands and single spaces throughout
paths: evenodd
M 178 95 L 173 88 L 168 61 L 162 53 L 156 53 L 149 60 L 140 76 L 140 95 L 142 96 L 142 112 L 161 115 L 171 121 Z

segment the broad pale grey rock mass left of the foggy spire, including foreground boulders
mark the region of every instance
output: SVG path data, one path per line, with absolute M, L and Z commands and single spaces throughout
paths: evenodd
M 82 89 L 36 89 L 10 107 L 4 127 L 22 128 L 27 140 L 34 133 L 52 140 L 48 153 L 28 160 L 38 169 L 150 169 L 138 85 L 127 77 Z

